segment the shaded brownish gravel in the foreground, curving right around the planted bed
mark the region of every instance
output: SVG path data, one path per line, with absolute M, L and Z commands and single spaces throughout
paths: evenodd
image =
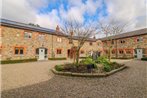
M 38 84 L 2 92 L 2 98 L 147 98 L 147 62 L 130 61 L 106 78 L 54 76 Z

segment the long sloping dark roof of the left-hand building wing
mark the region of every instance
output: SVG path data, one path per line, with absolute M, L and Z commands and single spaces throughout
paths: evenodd
M 57 32 L 56 30 L 53 30 L 53 29 L 32 26 L 29 24 L 11 21 L 11 20 L 7 20 L 7 19 L 0 19 L 0 23 L 3 26 L 13 27 L 13 28 L 32 30 L 32 31 L 43 32 L 43 33 L 54 34 L 54 35 L 63 35 L 63 36 L 65 35 L 62 32 Z

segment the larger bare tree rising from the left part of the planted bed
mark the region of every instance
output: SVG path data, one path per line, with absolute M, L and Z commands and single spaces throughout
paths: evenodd
M 76 64 L 79 63 L 79 51 L 84 43 L 91 37 L 97 34 L 97 26 L 92 22 L 86 24 L 80 23 L 76 20 L 65 21 L 62 31 L 69 37 L 69 41 L 72 44 L 71 48 L 75 48 L 76 51 Z M 78 44 L 74 43 L 77 40 Z

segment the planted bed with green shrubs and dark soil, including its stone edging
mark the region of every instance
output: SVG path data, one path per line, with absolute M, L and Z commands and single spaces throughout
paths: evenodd
M 97 60 L 86 58 L 81 60 L 79 64 L 68 63 L 56 65 L 52 71 L 60 75 L 108 76 L 124 68 L 126 68 L 124 64 L 109 62 L 105 57 L 99 57 Z

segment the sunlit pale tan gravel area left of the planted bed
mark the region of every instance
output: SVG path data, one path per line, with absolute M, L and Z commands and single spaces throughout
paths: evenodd
M 51 79 L 54 74 L 49 70 L 56 64 L 70 61 L 39 61 L 1 65 L 2 90 L 33 85 Z

